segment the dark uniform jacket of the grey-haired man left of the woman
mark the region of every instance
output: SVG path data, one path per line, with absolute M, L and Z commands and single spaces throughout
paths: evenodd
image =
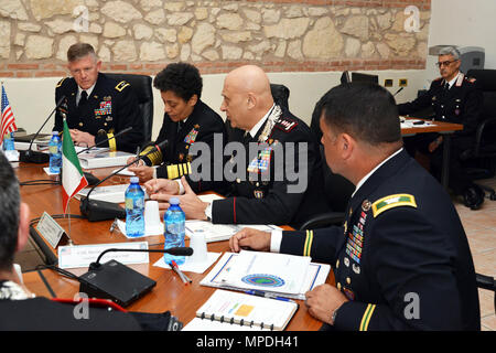
M 132 127 L 132 130 L 103 142 L 99 147 L 111 150 L 136 152 L 144 141 L 143 120 L 138 98 L 129 83 L 117 82 L 99 73 L 87 104 L 77 106 L 77 83 L 72 77 L 61 79 L 55 88 L 55 101 L 65 96 L 55 115 L 54 130 L 63 130 L 63 115 L 69 129 L 78 129 L 95 136 L 95 143 L 111 138 L 114 133 Z

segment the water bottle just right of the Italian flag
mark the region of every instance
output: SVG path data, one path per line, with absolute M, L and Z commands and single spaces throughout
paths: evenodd
M 144 192 L 139 178 L 132 176 L 126 190 L 126 234 L 129 237 L 144 235 Z

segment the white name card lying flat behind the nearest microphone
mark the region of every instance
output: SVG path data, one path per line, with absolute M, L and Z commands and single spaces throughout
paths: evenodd
M 76 245 L 58 247 L 58 267 L 61 268 L 78 268 L 88 267 L 90 263 L 95 263 L 98 256 L 110 248 L 119 249 L 148 249 L 147 242 L 133 243 L 114 243 L 114 244 L 95 244 L 95 245 Z M 100 259 L 100 264 L 105 264 L 111 259 L 119 263 L 131 264 L 149 264 L 149 253 L 107 253 Z

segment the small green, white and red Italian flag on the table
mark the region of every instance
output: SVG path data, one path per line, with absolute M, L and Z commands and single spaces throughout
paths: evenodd
M 64 213 L 67 213 L 69 200 L 87 185 L 88 181 L 80 169 L 67 121 L 64 119 L 64 135 L 62 139 L 62 204 Z

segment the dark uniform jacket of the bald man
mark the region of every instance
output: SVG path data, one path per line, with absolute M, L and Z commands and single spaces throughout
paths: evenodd
M 236 130 L 240 131 L 234 129 Z M 244 178 L 225 182 L 227 186 L 225 192 L 230 197 L 213 202 L 213 223 L 290 224 L 298 227 L 311 215 L 330 210 L 322 197 L 324 184 L 317 143 L 309 127 L 285 108 L 274 105 L 266 124 L 256 136 L 233 132 L 228 142 L 240 142 L 245 146 L 246 164 L 237 165 L 231 159 L 225 164 L 225 170 L 233 170 L 237 175 L 242 174 Z M 292 153 L 288 150 L 287 142 L 294 142 L 294 154 L 296 154 L 294 169 L 285 164 L 287 154 Z M 251 159 L 248 152 L 249 143 L 259 147 L 259 153 Z M 306 143 L 308 147 L 306 164 L 300 162 L 298 158 L 299 147 L 303 146 L 302 143 Z M 276 149 L 281 149 L 284 153 L 283 171 L 274 169 L 274 158 L 281 156 L 274 153 Z M 238 167 L 242 168 L 239 174 Z M 298 181 L 289 181 L 287 172 L 288 170 L 298 171 L 299 168 L 305 169 L 306 190 L 300 193 L 288 192 L 288 188 L 291 184 L 298 184 Z

